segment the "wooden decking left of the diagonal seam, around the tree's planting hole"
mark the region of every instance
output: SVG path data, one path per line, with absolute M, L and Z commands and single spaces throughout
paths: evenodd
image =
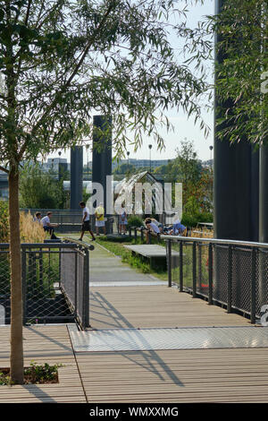
M 0 367 L 9 367 L 10 327 L 0 328 Z M 23 328 L 24 366 L 63 365 L 59 382 L 53 384 L 0 386 L 0 403 L 86 402 L 80 374 L 66 325 L 35 325 Z

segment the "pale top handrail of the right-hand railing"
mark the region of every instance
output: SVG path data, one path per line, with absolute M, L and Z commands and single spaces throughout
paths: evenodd
M 224 240 L 218 238 L 199 238 L 197 236 L 160 236 L 163 240 L 186 241 L 188 243 L 208 243 L 217 245 L 241 245 L 244 247 L 268 248 L 268 243 L 255 243 L 251 241 Z

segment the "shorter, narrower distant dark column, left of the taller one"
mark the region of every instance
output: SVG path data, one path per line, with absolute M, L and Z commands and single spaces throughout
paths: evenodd
M 71 149 L 71 209 L 80 209 L 83 197 L 83 147 Z

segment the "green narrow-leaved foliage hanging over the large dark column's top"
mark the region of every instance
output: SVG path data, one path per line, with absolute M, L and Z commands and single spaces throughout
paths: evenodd
M 267 142 L 267 11 L 267 0 L 225 0 L 222 12 L 208 21 L 209 30 L 219 34 L 217 54 L 222 57 L 215 86 L 219 110 L 225 110 L 216 122 L 220 139 Z

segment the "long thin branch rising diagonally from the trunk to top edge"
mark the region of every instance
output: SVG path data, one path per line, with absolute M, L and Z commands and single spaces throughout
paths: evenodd
M 71 81 L 73 80 L 75 75 L 79 72 L 81 65 L 84 63 L 84 60 L 85 60 L 86 56 L 88 55 L 89 48 L 93 45 L 97 35 L 103 29 L 103 27 L 105 25 L 105 21 L 107 20 L 109 14 L 112 12 L 113 7 L 115 6 L 116 3 L 117 3 L 117 0 L 113 0 L 113 2 L 111 2 L 111 4 L 108 7 L 102 21 L 100 21 L 99 25 L 97 26 L 97 28 L 95 30 L 95 33 L 92 35 L 91 39 L 88 42 L 88 45 L 85 47 L 84 52 L 82 53 L 82 56 L 81 56 L 78 64 L 75 66 L 73 72 L 71 73 L 71 76 L 69 77 L 68 81 L 63 85 L 63 88 L 60 91 L 56 92 L 54 100 L 46 108 L 46 111 L 44 112 L 43 116 L 40 117 L 37 124 L 32 128 L 32 131 L 31 131 L 32 135 L 38 130 L 39 126 L 42 125 L 42 123 L 44 122 L 44 120 L 49 115 L 50 111 L 52 110 L 52 108 L 54 108 L 54 106 L 58 103 L 59 98 L 60 98 L 61 94 L 63 93 L 63 91 L 66 90 L 71 85 Z M 22 145 L 21 151 L 19 152 L 19 159 L 22 158 L 23 153 L 27 149 L 29 142 L 30 142 L 30 140 L 25 141 L 24 144 Z

